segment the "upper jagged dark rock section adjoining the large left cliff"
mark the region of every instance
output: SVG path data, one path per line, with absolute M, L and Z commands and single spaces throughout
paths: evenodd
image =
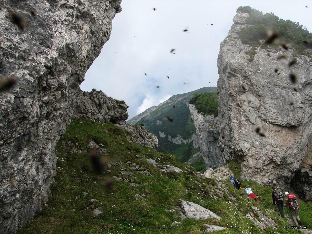
M 117 104 L 113 98 L 106 96 L 102 91 L 95 89 L 90 93 L 80 91 L 77 95 L 77 106 L 72 118 L 125 124 L 125 120 L 129 116 L 128 107 L 126 104 Z

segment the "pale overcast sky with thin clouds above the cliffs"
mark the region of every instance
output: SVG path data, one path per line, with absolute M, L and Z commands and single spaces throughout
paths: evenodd
M 80 87 L 124 100 L 130 119 L 172 95 L 216 86 L 220 42 L 237 7 L 248 5 L 312 30 L 311 1 L 124 0 Z

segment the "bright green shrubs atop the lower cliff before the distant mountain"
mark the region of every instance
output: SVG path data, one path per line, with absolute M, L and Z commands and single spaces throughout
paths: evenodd
M 195 93 L 190 104 L 195 105 L 198 112 L 203 112 L 205 115 L 218 116 L 218 95 L 213 92 Z

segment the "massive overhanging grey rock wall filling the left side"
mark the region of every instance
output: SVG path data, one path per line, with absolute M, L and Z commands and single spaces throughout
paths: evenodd
M 0 73 L 17 79 L 0 93 L 0 233 L 16 232 L 47 201 L 55 144 L 70 123 L 85 72 L 110 37 L 120 2 L 0 2 Z M 24 30 L 11 12 L 24 19 Z

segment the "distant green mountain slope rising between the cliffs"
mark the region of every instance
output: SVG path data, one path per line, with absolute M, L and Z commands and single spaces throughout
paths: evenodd
M 168 100 L 158 105 L 152 112 L 144 115 L 149 109 L 130 119 L 127 124 L 138 125 L 144 123 L 158 137 L 158 151 L 175 154 L 180 162 L 186 162 L 199 149 L 194 149 L 192 135 L 196 132 L 191 120 L 191 113 L 186 103 L 193 97 L 194 93 L 216 92 L 217 87 L 204 87 L 189 93 L 173 95 Z M 173 105 L 175 106 L 173 108 Z M 140 116 L 144 115 L 143 118 Z M 167 116 L 172 117 L 170 122 Z M 136 119 L 139 119 L 136 121 Z M 163 136 L 163 137 L 161 137 Z M 175 144 L 169 140 L 180 136 L 185 143 Z M 200 170 L 199 168 L 197 168 Z M 202 169 L 203 171 L 204 169 Z

